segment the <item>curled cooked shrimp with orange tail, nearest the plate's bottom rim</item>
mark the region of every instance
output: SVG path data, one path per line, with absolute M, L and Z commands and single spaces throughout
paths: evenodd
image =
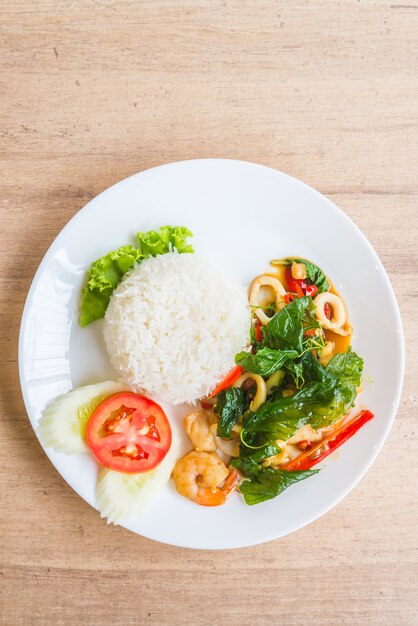
M 224 504 L 237 488 L 240 475 L 229 472 L 214 452 L 189 452 L 177 461 L 173 470 L 177 491 L 203 506 Z

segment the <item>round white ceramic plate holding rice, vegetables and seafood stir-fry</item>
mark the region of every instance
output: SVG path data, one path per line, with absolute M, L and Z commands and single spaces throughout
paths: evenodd
M 398 306 L 385 270 L 359 229 L 324 196 L 267 167 L 241 161 L 183 161 L 141 172 L 92 200 L 65 226 L 30 288 L 21 324 L 20 377 L 36 432 L 47 402 L 79 385 L 115 379 L 102 322 L 81 329 L 77 307 L 84 273 L 109 250 L 133 242 L 138 230 L 185 225 L 195 250 L 244 285 L 270 259 L 312 259 L 336 284 L 364 357 L 359 398 L 375 414 L 313 478 L 253 507 L 237 494 L 218 508 L 179 496 L 172 481 L 129 528 L 145 537 L 193 548 L 235 548 L 287 535 L 317 519 L 362 478 L 393 422 L 402 387 L 404 348 Z M 382 358 L 382 345 L 390 359 Z M 166 409 L 182 436 L 184 407 Z M 45 450 L 68 484 L 94 506 L 97 467 L 89 454 Z

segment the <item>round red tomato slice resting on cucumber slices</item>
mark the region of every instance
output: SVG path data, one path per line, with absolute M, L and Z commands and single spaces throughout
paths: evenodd
M 171 446 L 171 428 L 162 408 L 129 391 L 99 404 L 87 423 L 86 441 L 99 463 L 126 474 L 149 472 Z

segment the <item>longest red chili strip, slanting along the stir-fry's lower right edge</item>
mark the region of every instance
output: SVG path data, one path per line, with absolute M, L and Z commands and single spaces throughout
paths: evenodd
M 313 448 L 307 450 L 293 461 L 289 461 L 285 465 L 282 465 L 280 469 L 294 471 L 294 470 L 307 470 L 325 459 L 331 452 L 334 452 L 337 448 L 342 446 L 343 443 L 348 441 L 350 437 L 352 437 L 366 422 L 371 420 L 374 417 L 371 411 L 360 411 L 357 413 L 351 420 L 342 424 L 339 428 L 334 430 L 333 433 L 325 437 L 322 441 L 317 443 Z M 326 444 L 326 445 L 325 445 Z M 318 452 L 322 446 L 324 446 L 324 450 L 320 451 L 317 456 L 315 453 Z M 314 457 L 314 458 L 312 458 Z

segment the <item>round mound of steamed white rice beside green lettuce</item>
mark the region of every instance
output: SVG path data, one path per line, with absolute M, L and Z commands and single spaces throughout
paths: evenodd
M 210 393 L 248 341 L 246 290 L 195 254 L 149 258 L 126 275 L 104 338 L 122 379 L 178 404 Z

